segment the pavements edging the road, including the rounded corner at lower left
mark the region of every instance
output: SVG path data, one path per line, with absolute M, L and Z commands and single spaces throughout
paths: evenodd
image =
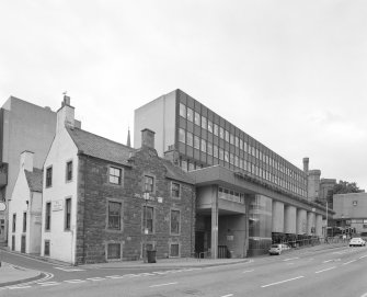
M 314 247 L 308 247 L 302 249 L 293 249 L 293 253 L 299 252 L 314 252 L 325 249 L 335 249 L 347 245 L 346 243 L 330 243 L 330 244 L 319 244 Z M 16 254 L 16 252 L 14 252 Z M 23 254 L 24 255 L 24 254 Z M 31 256 L 37 260 L 44 260 L 45 262 L 54 262 L 47 258 Z M 246 259 L 194 259 L 194 258 L 180 258 L 180 259 L 158 259 L 157 263 L 145 263 L 142 261 L 123 261 L 123 262 L 108 262 L 108 263 L 98 263 L 98 264 L 85 264 L 79 265 L 85 270 L 101 270 L 101 269 L 144 269 L 144 267 L 157 267 L 157 269 L 180 269 L 180 267 L 207 267 L 207 266 L 220 266 L 230 265 L 238 263 L 250 262 L 251 258 Z M 62 264 L 65 266 L 70 266 L 68 263 L 61 263 L 56 261 L 57 264 Z M 27 270 L 24 267 L 11 265 L 9 263 L 2 262 L 0 266 L 0 287 L 16 285 L 20 283 L 32 282 L 44 277 L 44 273 Z

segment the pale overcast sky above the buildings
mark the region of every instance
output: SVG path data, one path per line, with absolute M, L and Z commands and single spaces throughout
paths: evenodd
M 0 103 L 60 107 L 126 144 L 181 89 L 298 168 L 367 191 L 367 1 L 0 2 Z M 140 136 L 139 136 L 140 137 Z

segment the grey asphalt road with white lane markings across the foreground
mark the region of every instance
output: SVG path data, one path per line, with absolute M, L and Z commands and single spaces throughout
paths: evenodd
M 255 258 L 250 263 L 171 271 L 68 272 L 48 263 L 38 264 L 54 277 L 2 288 L 0 296 L 367 297 L 367 248 L 290 251 Z

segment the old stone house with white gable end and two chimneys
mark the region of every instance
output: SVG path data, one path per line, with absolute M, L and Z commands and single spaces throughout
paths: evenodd
M 73 264 L 191 256 L 194 250 L 193 180 L 159 158 L 154 133 L 141 148 L 74 127 L 65 98 L 44 164 L 41 254 Z

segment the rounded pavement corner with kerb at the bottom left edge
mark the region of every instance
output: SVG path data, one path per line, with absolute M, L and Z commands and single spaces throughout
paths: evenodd
M 5 262 L 1 263 L 0 275 L 0 287 L 18 285 L 45 277 L 43 272 L 27 270 Z

